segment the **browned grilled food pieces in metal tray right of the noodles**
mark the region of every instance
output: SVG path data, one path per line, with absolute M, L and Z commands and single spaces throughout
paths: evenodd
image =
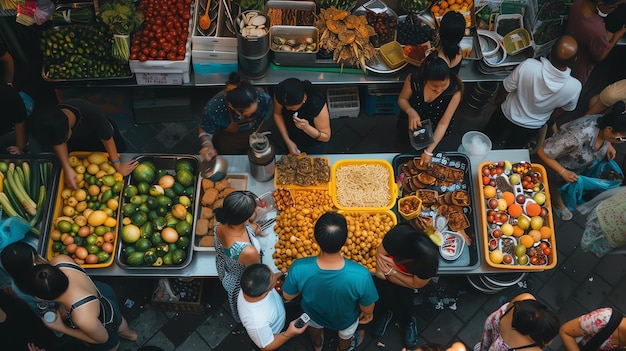
M 413 156 L 394 162 L 403 198 L 415 195 L 422 201 L 421 211 L 410 219 L 411 224 L 425 231 L 458 233 L 468 246 L 471 245 L 475 220 L 467 158 L 448 153 L 438 154 L 428 164 L 420 164 L 420 158 Z

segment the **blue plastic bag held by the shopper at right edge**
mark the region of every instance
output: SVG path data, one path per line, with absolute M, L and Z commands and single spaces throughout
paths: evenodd
M 570 210 L 573 211 L 576 206 L 585 202 L 584 195 L 590 192 L 603 192 L 605 190 L 617 188 L 622 184 L 621 179 L 600 179 L 601 174 L 606 174 L 610 171 L 614 171 L 617 174 L 624 176 L 622 169 L 617 162 L 611 160 L 596 160 L 584 174 L 578 175 L 578 180 L 573 183 L 565 183 L 559 188 L 559 193 L 563 198 L 563 203 Z

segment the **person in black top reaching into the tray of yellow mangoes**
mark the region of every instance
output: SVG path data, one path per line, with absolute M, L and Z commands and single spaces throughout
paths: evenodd
M 42 147 L 51 147 L 59 157 L 65 173 L 65 185 L 78 186 L 76 171 L 69 164 L 71 151 L 106 151 L 116 171 L 126 176 L 139 163 L 120 162 L 118 151 L 124 151 L 124 139 L 115 125 L 98 106 L 82 99 L 69 99 L 56 106 L 35 109 L 28 129 Z

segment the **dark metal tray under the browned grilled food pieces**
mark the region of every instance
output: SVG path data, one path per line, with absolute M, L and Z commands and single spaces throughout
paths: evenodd
M 443 159 L 442 156 L 444 156 L 445 159 L 451 161 L 452 163 L 464 163 L 467 166 L 463 174 L 462 184 L 466 185 L 465 190 L 468 191 L 470 199 L 473 198 L 475 196 L 475 194 L 472 194 L 473 189 L 474 189 L 474 178 L 472 177 L 473 173 L 470 167 L 469 158 L 465 154 L 462 154 L 460 152 L 436 153 L 435 157 L 433 157 L 433 162 L 442 163 L 441 162 Z M 413 154 L 400 154 L 393 158 L 392 165 L 393 165 L 394 171 L 396 172 L 395 173 L 396 177 L 398 177 L 400 174 L 403 173 L 400 166 L 403 163 L 409 160 L 412 160 L 415 157 L 416 155 L 413 155 Z M 446 164 L 446 165 L 450 165 L 450 164 Z M 399 185 L 399 188 L 400 188 L 400 191 L 402 191 L 402 185 Z M 435 186 L 430 186 L 427 189 L 434 189 L 434 190 L 437 190 L 438 192 L 441 192 L 440 190 L 442 190 L 441 188 L 438 189 Z M 449 190 L 453 190 L 453 189 L 449 189 Z M 470 201 L 470 203 L 473 204 L 472 201 Z M 398 213 L 397 205 L 393 208 L 393 210 L 395 213 Z M 465 213 L 465 215 L 468 217 L 470 221 L 470 226 L 469 228 L 465 229 L 465 233 L 468 236 L 470 236 L 470 238 L 472 238 L 472 244 L 465 245 L 465 247 L 463 248 L 463 252 L 459 256 L 459 258 L 454 261 L 448 261 L 444 259 L 443 257 L 441 257 L 440 255 L 439 271 L 455 271 L 455 272 L 468 271 L 469 272 L 480 267 L 481 250 L 479 247 L 478 233 L 477 233 L 477 231 L 479 230 L 478 225 L 477 225 L 478 221 L 476 220 L 477 210 L 472 208 L 472 210 L 468 212 L 469 213 Z M 401 216 L 399 217 L 399 220 L 402 222 L 407 222 Z

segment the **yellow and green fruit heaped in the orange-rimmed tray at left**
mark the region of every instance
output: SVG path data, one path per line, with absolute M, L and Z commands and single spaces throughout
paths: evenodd
M 78 189 L 65 186 L 60 175 L 47 258 L 65 254 L 84 268 L 108 267 L 117 243 L 117 216 L 123 176 L 103 152 L 71 153 L 69 165 Z

